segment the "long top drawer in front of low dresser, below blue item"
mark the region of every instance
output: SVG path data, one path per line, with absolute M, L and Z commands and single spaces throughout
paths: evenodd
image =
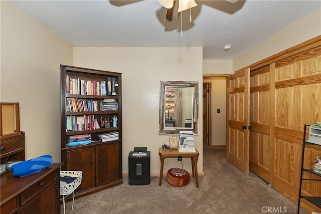
M 43 191 L 49 184 L 51 184 L 56 179 L 55 172 L 48 174 L 46 177 L 42 178 L 27 190 L 21 193 L 21 205 L 24 205 L 29 199 L 38 195 L 41 191 Z

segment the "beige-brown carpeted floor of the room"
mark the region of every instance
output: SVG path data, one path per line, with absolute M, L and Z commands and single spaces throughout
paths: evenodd
M 187 186 L 175 187 L 166 179 L 152 177 L 149 185 L 123 184 L 66 203 L 66 213 L 296 213 L 297 205 L 250 173 L 245 176 L 225 158 L 225 148 L 204 145 L 199 188 L 195 178 Z M 61 213 L 63 206 L 61 205 Z M 300 210 L 301 214 L 307 214 Z

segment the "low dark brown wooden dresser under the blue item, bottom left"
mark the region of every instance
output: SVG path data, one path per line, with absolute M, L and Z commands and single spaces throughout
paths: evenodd
M 25 177 L 1 176 L 1 213 L 60 213 L 59 171 L 62 163 Z

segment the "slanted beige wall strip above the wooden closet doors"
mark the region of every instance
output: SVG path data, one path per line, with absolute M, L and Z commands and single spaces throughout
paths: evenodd
M 321 9 L 294 23 L 280 33 L 255 46 L 233 60 L 237 71 L 276 53 L 321 35 Z

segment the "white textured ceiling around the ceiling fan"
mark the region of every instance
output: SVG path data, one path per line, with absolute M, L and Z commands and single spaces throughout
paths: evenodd
M 231 60 L 321 7 L 321 1 L 197 1 L 181 21 L 143 1 L 12 1 L 75 47 L 203 47 L 203 59 Z M 182 15 L 182 14 L 181 14 Z M 295 35 L 293 35 L 295 36 Z M 224 45 L 231 45 L 224 51 Z

